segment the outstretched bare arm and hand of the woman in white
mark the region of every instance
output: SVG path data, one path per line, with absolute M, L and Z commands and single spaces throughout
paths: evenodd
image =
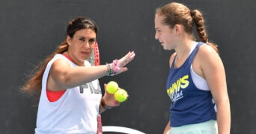
M 118 60 L 119 69 L 115 74 L 121 74 L 127 71 L 127 63 L 132 61 L 135 57 L 135 53 L 129 52 L 121 60 Z M 112 66 L 111 69 L 115 66 Z M 72 68 L 70 63 L 66 60 L 56 60 L 51 67 L 49 79 L 47 81 L 47 87 L 54 91 L 61 91 L 64 89 L 70 89 L 75 86 L 88 83 L 92 80 L 96 80 L 100 77 L 104 77 L 108 74 L 109 67 L 103 66 L 79 66 Z

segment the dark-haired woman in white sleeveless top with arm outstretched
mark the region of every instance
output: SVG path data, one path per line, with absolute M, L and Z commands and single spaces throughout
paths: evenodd
M 40 97 L 35 133 L 102 133 L 100 113 L 119 103 L 108 92 L 102 95 L 98 79 L 127 71 L 135 53 L 91 66 L 87 60 L 96 43 L 97 25 L 91 19 L 71 20 L 65 41 L 22 87 Z

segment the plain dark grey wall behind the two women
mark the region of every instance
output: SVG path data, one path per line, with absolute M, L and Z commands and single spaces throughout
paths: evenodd
M 19 92 L 26 74 L 64 41 L 67 22 L 77 16 L 94 19 L 100 28 L 101 63 L 135 51 L 129 71 L 103 77 L 116 80 L 129 100 L 103 113 L 103 126 L 162 133 L 168 122 L 165 93 L 168 57 L 154 39 L 154 11 L 167 0 L 1 0 L 0 132 L 34 133 L 37 108 Z M 180 1 L 203 11 L 211 40 L 219 45 L 231 100 L 231 133 L 256 133 L 255 8 L 253 0 Z

